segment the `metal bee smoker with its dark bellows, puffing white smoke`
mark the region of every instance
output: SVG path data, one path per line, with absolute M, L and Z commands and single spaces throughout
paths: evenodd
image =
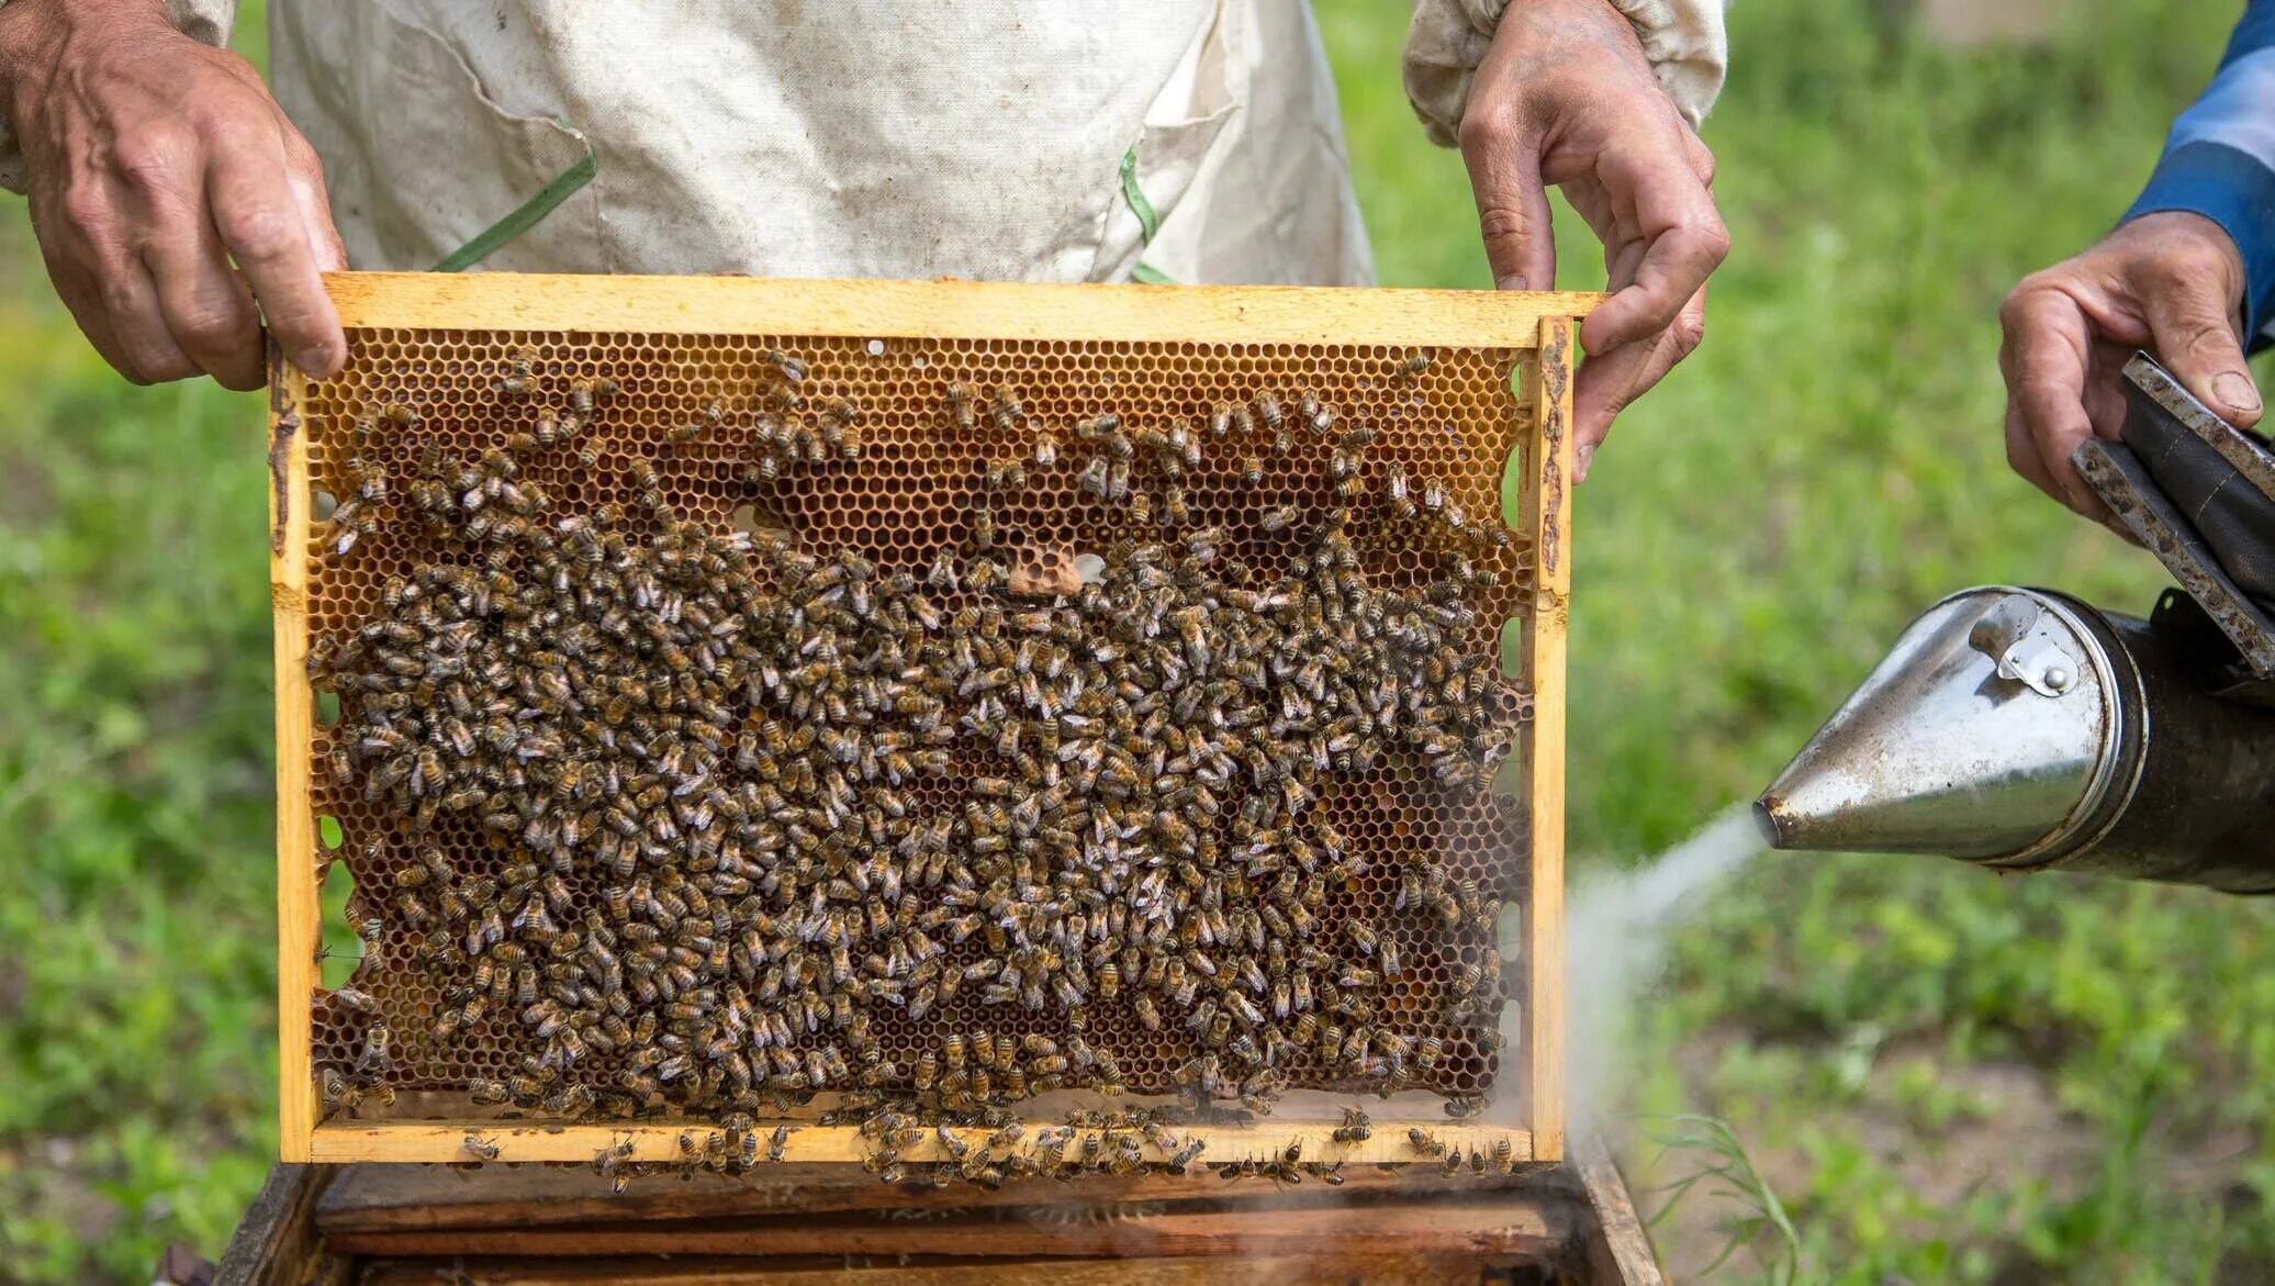
M 1931 605 L 1754 803 L 1770 847 L 2275 892 L 2275 453 L 2145 355 L 2125 382 L 2073 462 L 2179 590 Z

